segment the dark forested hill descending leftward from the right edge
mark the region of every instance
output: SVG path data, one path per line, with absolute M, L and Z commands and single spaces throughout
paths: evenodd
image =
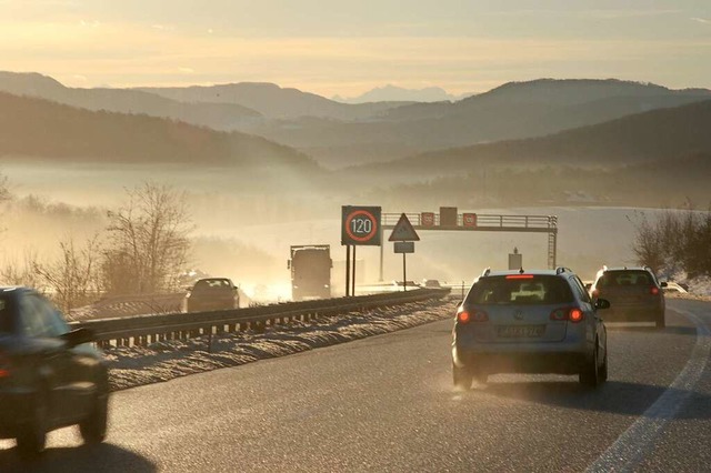
M 373 174 L 407 169 L 438 174 L 481 165 L 609 167 L 711 152 L 711 101 L 653 110 L 548 137 L 441 150 L 384 164 L 361 167 Z

